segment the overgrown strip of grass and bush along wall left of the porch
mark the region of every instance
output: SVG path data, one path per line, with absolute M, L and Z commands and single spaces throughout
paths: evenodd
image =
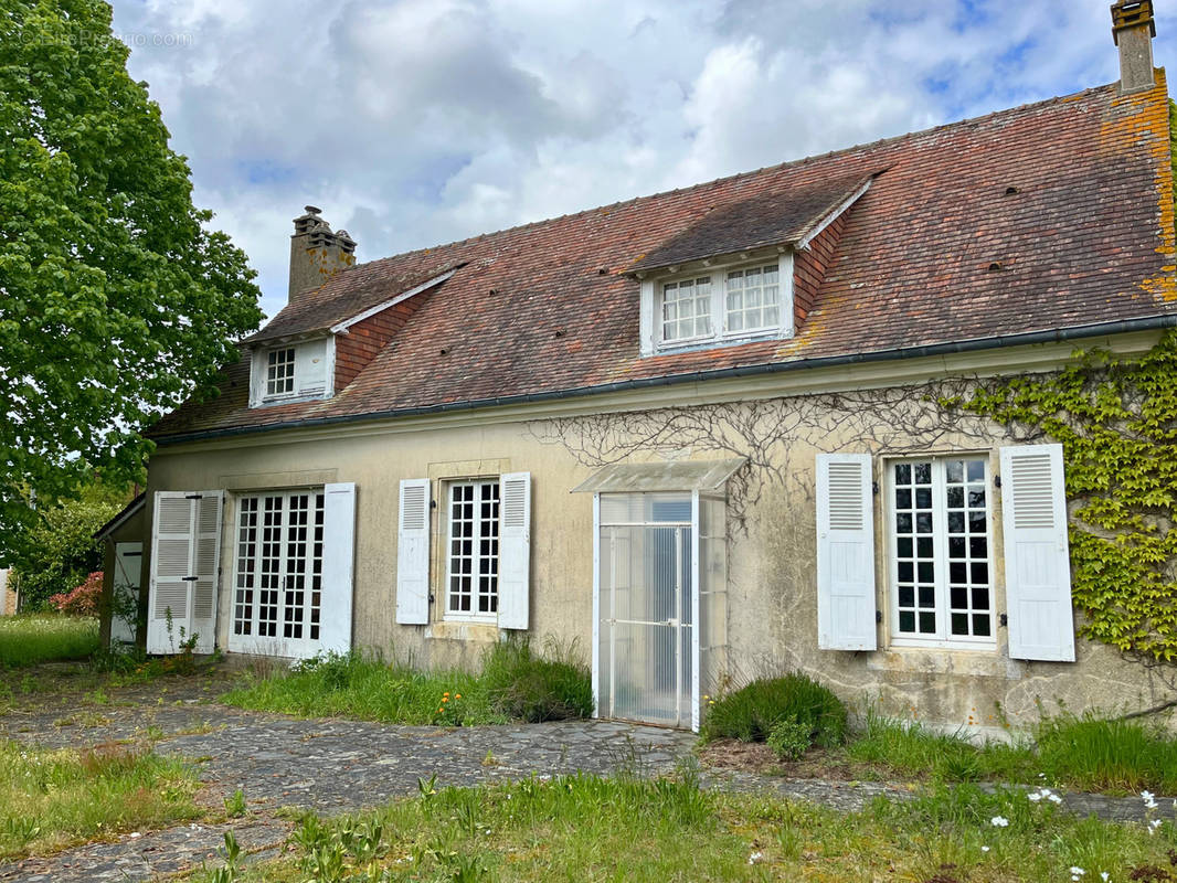
M 419 671 L 352 652 L 254 676 L 222 701 L 304 717 L 471 726 L 586 717 L 592 712 L 592 686 L 574 650 L 550 651 L 545 658 L 527 642 L 510 642 L 487 652 L 481 675 Z

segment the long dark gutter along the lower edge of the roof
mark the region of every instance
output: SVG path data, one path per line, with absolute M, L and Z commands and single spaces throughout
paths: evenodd
M 973 338 L 971 340 L 959 340 L 946 344 L 927 344 L 923 346 L 897 347 L 893 350 L 876 350 L 873 352 L 850 353 L 846 356 L 825 356 L 816 359 L 794 359 L 792 361 L 773 361 L 760 365 L 746 365 L 742 367 L 716 369 L 713 371 L 694 371 L 687 374 L 671 374 L 667 377 L 639 378 L 636 380 L 618 380 L 599 386 L 579 386 L 571 390 L 553 390 L 551 392 L 524 393 L 519 396 L 500 396 L 490 399 L 473 399 L 470 401 L 450 401 L 440 405 L 425 405 L 419 407 L 394 409 L 391 411 L 370 411 L 363 414 L 340 414 L 337 417 L 312 417 L 305 420 L 293 420 L 290 423 L 275 423 L 266 426 L 233 426 L 221 430 L 205 430 L 201 432 L 188 432 L 175 436 L 164 436 L 152 439 L 157 446 L 164 447 L 172 444 L 188 442 L 201 442 L 213 438 L 230 438 L 232 436 L 251 436 L 259 432 L 278 432 L 285 430 L 301 430 L 314 426 L 337 426 L 348 423 L 364 423 L 370 420 L 386 420 L 395 417 L 420 417 L 423 414 L 439 414 L 453 411 L 476 411 L 483 407 L 498 407 L 504 405 L 523 405 L 540 401 L 559 401 L 563 399 L 585 398 L 588 396 L 600 396 L 610 392 L 624 392 L 627 390 L 645 390 L 657 386 L 676 386 L 678 384 L 703 383 L 706 380 L 720 380 L 738 377 L 757 377 L 760 374 L 778 374 L 789 371 L 805 371 L 819 367 L 837 367 L 842 365 L 865 365 L 876 361 L 897 361 L 899 359 L 919 359 L 933 356 L 950 356 L 953 353 L 977 352 L 979 350 L 997 350 L 1010 346 L 1029 346 L 1033 344 L 1056 344 L 1066 340 L 1082 340 L 1092 337 L 1105 337 L 1108 334 L 1125 334 L 1133 331 L 1155 331 L 1159 328 L 1177 327 L 1177 313 L 1165 316 L 1150 316 L 1142 319 L 1124 319 L 1122 321 L 1105 321 L 1091 325 L 1076 325 L 1069 328 L 1055 328 L 1052 331 L 1031 331 L 1020 334 L 1006 334 L 999 337 Z M 148 438 L 151 438 L 148 436 Z

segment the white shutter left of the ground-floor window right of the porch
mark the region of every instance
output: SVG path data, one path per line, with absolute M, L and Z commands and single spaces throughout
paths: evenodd
M 817 456 L 817 644 L 875 650 L 871 457 Z

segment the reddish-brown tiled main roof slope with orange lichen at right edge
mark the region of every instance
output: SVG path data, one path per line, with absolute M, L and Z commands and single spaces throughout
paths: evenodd
M 1144 93 L 1089 89 L 354 266 L 254 339 L 327 327 L 464 264 L 417 296 L 404 327 L 334 398 L 250 410 L 242 363 L 227 370 L 219 398 L 180 407 L 152 434 L 360 418 L 1173 316 L 1169 162 L 1162 77 Z M 779 201 L 785 215 L 796 194 L 829 195 L 879 170 L 844 215 L 794 338 L 640 357 L 639 283 L 627 273 L 643 255 L 733 206 Z

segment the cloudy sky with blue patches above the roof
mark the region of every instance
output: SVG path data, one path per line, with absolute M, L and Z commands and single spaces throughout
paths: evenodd
M 374 260 L 1118 79 L 1109 0 L 113 7 L 270 316 L 304 205 Z

